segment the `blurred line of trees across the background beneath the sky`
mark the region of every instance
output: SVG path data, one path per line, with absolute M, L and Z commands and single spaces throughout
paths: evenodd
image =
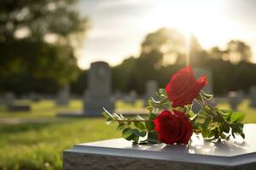
M 88 19 L 73 8 L 77 0 L 23 0 L 0 2 L 0 94 L 56 94 L 70 83 L 73 94 L 87 86 L 74 50 L 88 29 Z M 149 33 L 138 56 L 113 66 L 113 91 L 144 93 L 145 82 L 164 88 L 173 73 L 185 65 L 183 34 L 172 28 Z M 226 48 L 201 48 L 190 37 L 190 65 L 212 71 L 215 94 L 256 84 L 256 65 L 246 42 L 232 40 Z

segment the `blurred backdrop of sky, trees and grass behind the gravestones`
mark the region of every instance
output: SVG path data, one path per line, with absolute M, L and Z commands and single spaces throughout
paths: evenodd
M 0 169 L 61 169 L 73 144 L 120 137 L 102 117 L 56 116 L 86 107 L 96 61 L 110 65 L 117 109 L 143 109 L 146 82 L 165 88 L 189 61 L 211 72 L 215 105 L 236 104 L 244 122 L 256 122 L 254 8 L 253 0 L 1 0 Z M 67 86 L 69 102 L 55 105 Z M 30 110 L 10 111 L 9 99 Z

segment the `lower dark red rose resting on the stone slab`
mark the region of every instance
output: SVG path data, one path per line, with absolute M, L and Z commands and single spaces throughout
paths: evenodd
M 154 130 L 166 144 L 188 144 L 193 133 L 189 118 L 179 111 L 162 111 L 154 119 Z

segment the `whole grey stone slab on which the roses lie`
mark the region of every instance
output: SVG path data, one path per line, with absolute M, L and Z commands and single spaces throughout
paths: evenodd
M 132 144 L 125 139 L 76 144 L 63 154 L 63 169 L 256 169 L 256 124 L 244 127 L 246 139 L 212 143 L 193 135 L 188 145 Z

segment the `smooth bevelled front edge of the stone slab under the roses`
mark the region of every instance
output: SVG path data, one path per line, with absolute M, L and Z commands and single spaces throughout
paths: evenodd
M 164 161 L 181 161 L 189 163 L 201 163 L 209 165 L 220 165 L 226 167 L 240 166 L 248 163 L 256 162 L 256 155 L 253 153 L 241 156 L 206 156 L 199 154 L 177 154 L 167 152 L 157 152 L 154 150 L 132 150 L 132 149 L 119 149 L 107 148 L 100 146 L 86 146 L 74 145 L 70 150 L 64 152 L 95 154 L 103 156 L 124 156 L 131 158 L 142 158 L 151 160 L 164 160 Z

